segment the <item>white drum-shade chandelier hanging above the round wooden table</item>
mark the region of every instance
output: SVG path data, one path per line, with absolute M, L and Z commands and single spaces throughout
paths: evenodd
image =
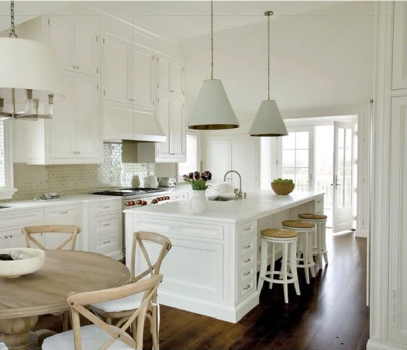
M 52 118 L 54 100 L 63 98 L 60 71 L 48 45 L 0 38 L 0 118 Z M 40 104 L 44 114 L 38 114 Z

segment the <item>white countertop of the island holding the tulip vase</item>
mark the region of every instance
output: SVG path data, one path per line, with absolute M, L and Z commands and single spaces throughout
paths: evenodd
M 170 218 L 239 222 L 277 213 L 312 201 L 323 194 L 323 192 L 294 191 L 288 196 L 278 196 L 271 190 L 263 190 L 249 192 L 247 199 L 239 201 L 208 201 L 208 208 L 202 213 L 193 213 L 189 201 L 126 209 L 124 212 L 126 215 L 153 215 Z

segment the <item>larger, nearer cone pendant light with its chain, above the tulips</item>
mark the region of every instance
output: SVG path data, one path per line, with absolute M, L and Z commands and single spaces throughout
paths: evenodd
M 211 79 L 204 80 L 188 120 L 188 129 L 219 130 L 239 127 L 222 81 L 213 78 L 213 1 L 211 0 Z

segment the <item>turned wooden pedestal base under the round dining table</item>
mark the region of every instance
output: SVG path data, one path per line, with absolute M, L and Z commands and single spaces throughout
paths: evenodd
M 37 334 L 31 331 L 37 321 L 37 316 L 0 320 L 1 341 L 9 350 L 38 349 Z

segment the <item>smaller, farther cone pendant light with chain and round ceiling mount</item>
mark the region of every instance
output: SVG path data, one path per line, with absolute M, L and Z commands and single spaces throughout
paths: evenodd
M 277 103 L 275 100 L 270 100 L 270 16 L 273 15 L 273 11 L 266 11 L 264 15 L 267 16 L 267 100 L 261 101 L 249 135 L 285 136 L 288 132 Z

